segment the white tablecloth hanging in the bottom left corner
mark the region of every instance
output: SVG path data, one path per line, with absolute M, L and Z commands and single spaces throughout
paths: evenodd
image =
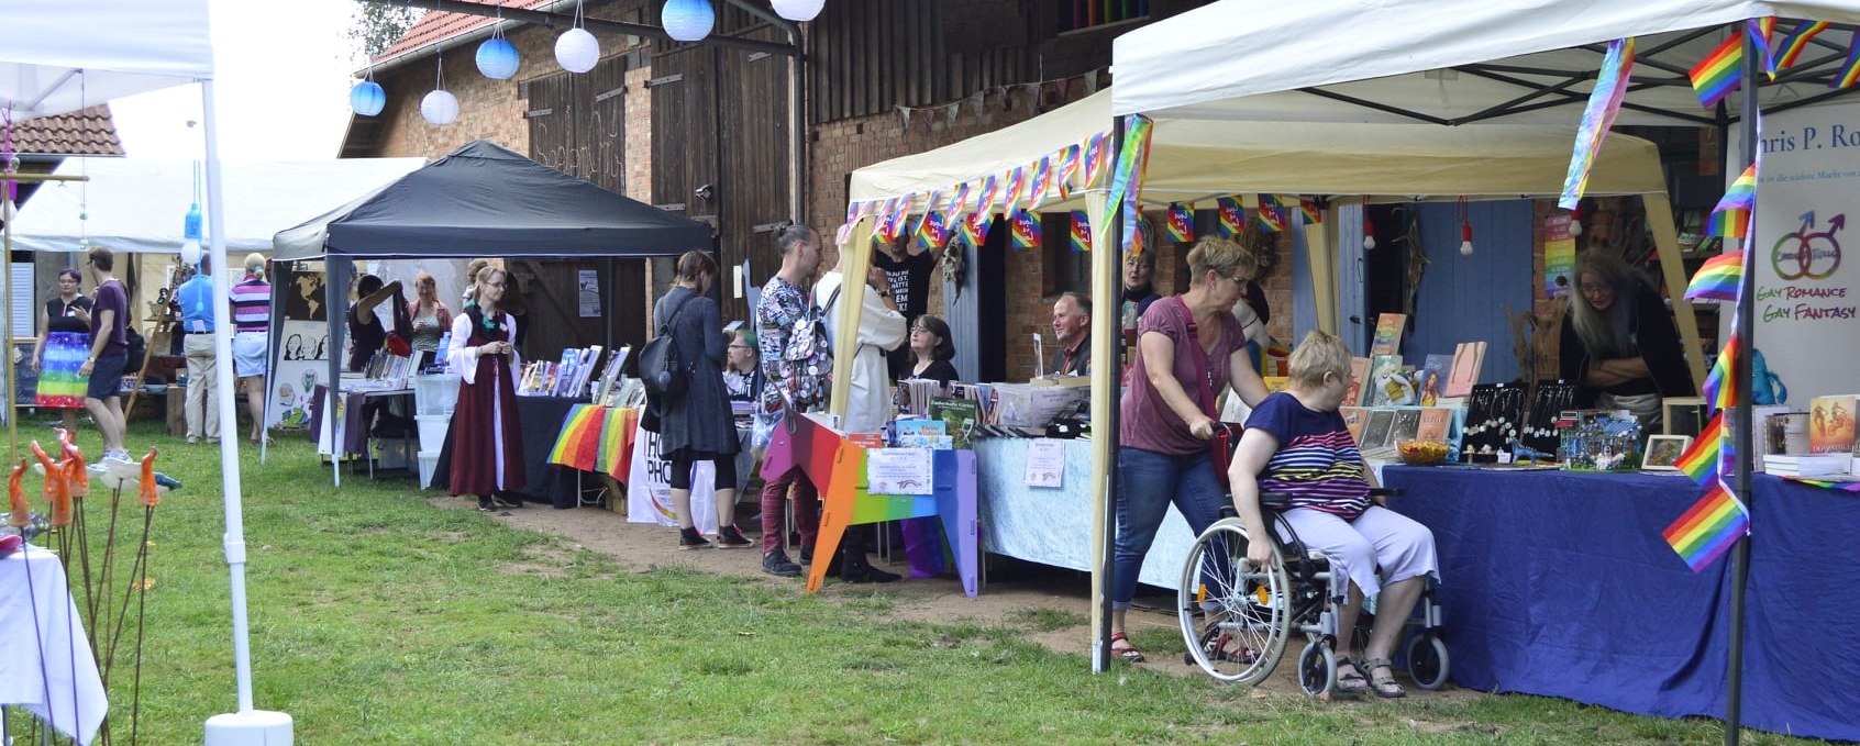
M 24 707 L 80 744 L 97 737 L 110 701 L 50 551 L 0 558 L 0 705 Z

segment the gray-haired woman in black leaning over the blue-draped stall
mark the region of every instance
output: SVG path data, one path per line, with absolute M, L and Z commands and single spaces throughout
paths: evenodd
M 1654 432 L 1663 396 L 1696 394 L 1667 303 L 1641 270 L 1603 251 L 1575 260 L 1575 290 L 1561 342 L 1575 406 L 1628 409 Z

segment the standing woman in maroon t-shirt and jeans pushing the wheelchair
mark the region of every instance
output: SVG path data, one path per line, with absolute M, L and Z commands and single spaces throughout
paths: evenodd
M 1110 651 L 1129 662 L 1142 662 L 1144 653 L 1123 634 L 1123 614 L 1170 502 L 1198 536 L 1220 519 L 1226 489 L 1209 460 L 1215 385 L 1231 387 L 1246 404 L 1267 396 L 1231 313 L 1256 272 L 1254 249 L 1203 238 L 1189 251 L 1189 292 L 1149 303 L 1136 322 L 1138 353 L 1118 419 L 1118 540 L 1110 569 Z

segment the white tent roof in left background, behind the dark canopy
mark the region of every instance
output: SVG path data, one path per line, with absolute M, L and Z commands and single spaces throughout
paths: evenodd
M 424 164 L 422 158 L 221 164 L 227 251 L 272 251 L 277 231 L 372 193 Z M 89 182 L 41 188 L 15 220 L 13 246 L 76 251 L 78 240 L 89 238 L 115 251 L 179 251 L 182 218 L 195 201 L 193 169 L 193 162 L 179 160 L 69 158 L 56 173 L 86 175 Z

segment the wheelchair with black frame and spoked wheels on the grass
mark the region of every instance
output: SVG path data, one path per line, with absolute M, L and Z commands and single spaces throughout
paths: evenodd
M 1300 633 L 1308 644 L 1298 655 L 1298 688 L 1317 698 L 1337 685 L 1337 606 L 1350 579 L 1332 573 L 1324 554 L 1298 541 L 1282 515 L 1289 502 L 1289 495 L 1259 495 L 1269 526 L 1278 534 L 1270 541 L 1280 562 L 1270 567 L 1246 562 L 1246 523 L 1233 506 L 1224 506 L 1222 519 L 1194 541 L 1176 605 L 1189 646 L 1183 662 L 1202 666 L 1215 681 L 1257 685 L 1278 668 L 1291 634 Z M 1417 686 L 1438 690 L 1447 685 L 1449 659 L 1432 586 L 1421 592 L 1415 610 L 1395 664 L 1404 664 Z M 1356 616 L 1356 640 L 1369 638 L 1371 623 L 1367 608 Z

